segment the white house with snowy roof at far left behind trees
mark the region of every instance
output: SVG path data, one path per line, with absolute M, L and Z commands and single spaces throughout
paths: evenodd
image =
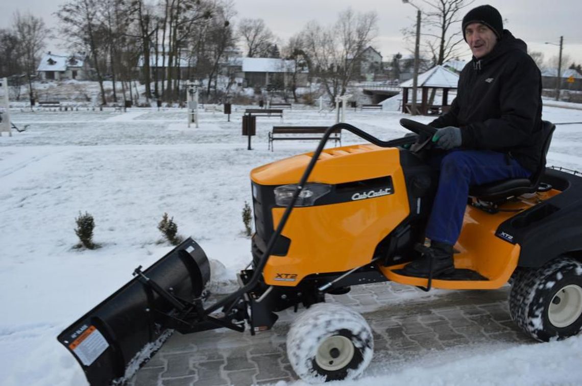
M 49 51 L 42 56 L 37 72 L 41 80 L 88 80 L 91 77 L 91 67 L 84 52 L 61 54 Z

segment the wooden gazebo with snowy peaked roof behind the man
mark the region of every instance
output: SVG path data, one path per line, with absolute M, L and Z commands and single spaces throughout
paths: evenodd
M 412 93 L 413 80 L 400 84 L 402 87 L 402 112 L 411 113 L 412 103 L 409 102 L 409 92 Z M 422 90 L 422 98 L 416 102 L 417 114 L 429 115 L 446 112 L 449 109 L 449 90 L 456 90 L 459 76 L 443 66 L 435 66 L 427 72 L 418 75 L 417 90 Z M 442 102 L 429 103 L 428 92 L 442 88 Z M 418 91 L 417 91 L 418 95 Z

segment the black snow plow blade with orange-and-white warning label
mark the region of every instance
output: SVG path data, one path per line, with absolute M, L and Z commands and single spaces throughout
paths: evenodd
M 123 384 L 171 334 L 168 319 L 203 295 L 210 264 L 191 238 L 134 278 L 57 337 L 89 383 Z M 169 294 L 169 295 L 166 295 Z M 179 300 L 184 299 L 184 302 Z

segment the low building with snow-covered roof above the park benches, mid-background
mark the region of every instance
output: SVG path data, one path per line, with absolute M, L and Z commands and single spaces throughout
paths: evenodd
M 296 75 L 296 85 L 307 85 L 307 66 L 297 66 L 294 60 L 279 58 L 243 58 L 242 77 L 247 87 L 264 87 L 268 84 L 288 85 Z

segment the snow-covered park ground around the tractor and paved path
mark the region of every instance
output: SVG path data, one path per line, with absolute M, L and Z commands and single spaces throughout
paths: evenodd
M 346 120 L 384 140 L 406 133 L 399 112 L 354 112 Z M 80 366 L 56 341 L 93 306 L 171 250 L 160 243 L 164 212 L 180 234 L 191 235 L 226 269 L 215 288 L 228 287 L 250 260 L 242 210 L 250 201 L 253 167 L 300 152 L 315 142 L 281 141 L 267 149 L 267 133 L 279 118 L 257 118 L 253 150 L 241 133 L 243 106 L 230 117 L 201 111 L 199 128 L 186 127 L 186 112 L 130 109 L 123 113 L 26 112 L 13 109 L 24 133 L 0 138 L 0 384 L 86 384 Z M 549 165 L 582 170 L 582 110 L 544 108 L 558 126 Z M 419 117 L 427 123 L 430 117 Z M 333 113 L 294 108 L 284 123 L 325 126 Z M 361 142 L 346 133 L 343 144 Z M 94 251 L 74 249 L 74 219 L 95 219 Z M 488 355 L 454 350 L 357 384 L 581 384 L 582 337 L 508 346 Z M 300 381 L 297 385 L 302 384 Z M 355 385 L 356 382 L 342 382 Z

